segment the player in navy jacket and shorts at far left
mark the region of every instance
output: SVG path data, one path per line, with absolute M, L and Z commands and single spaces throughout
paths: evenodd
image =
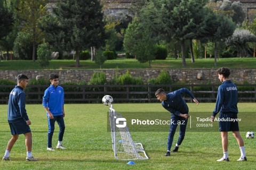
M 25 108 L 26 94 L 23 91 L 28 85 L 28 77 L 25 74 L 19 74 L 17 77 L 17 86 L 10 92 L 7 120 L 10 125 L 12 138 L 9 140 L 5 154 L 2 160 L 10 160 L 10 152 L 14 143 L 18 140 L 19 134 L 25 135 L 25 145 L 27 148 L 26 160 L 37 160 L 32 156 L 32 134 L 29 128 L 31 121 Z

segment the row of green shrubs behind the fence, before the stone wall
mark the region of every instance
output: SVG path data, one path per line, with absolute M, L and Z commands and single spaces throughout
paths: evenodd
M 133 78 L 131 76 L 131 74 L 129 73 L 129 71 L 127 71 L 125 74 L 123 75 L 119 75 L 118 70 L 116 71 L 116 74 L 114 76 L 114 78 L 112 80 L 110 80 L 109 82 L 107 82 L 106 80 L 106 75 L 104 72 L 100 71 L 100 72 L 95 72 L 92 76 L 92 79 L 89 82 L 85 82 L 85 81 L 81 81 L 79 83 L 77 82 L 65 82 L 62 83 L 63 85 L 103 85 L 105 83 L 108 84 L 116 84 L 116 85 L 140 85 L 143 84 L 142 79 L 139 78 Z M 149 79 L 148 83 L 151 84 L 158 84 L 160 85 L 159 87 L 153 87 L 151 88 L 151 91 L 156 91 L 158 88 L 161 88 L 161 84 L 173 84 L 171 77 L 169 75 L 169 73 L 167 71 L 161 71 L 161 73 L 158 75 L 157 78 L 155 79 Z M 16 82 L 14 81 L 10 81 L 10 80 L 0 80 L 0 84 L 1 85 L 14 85 L 16 84 Z M 50 85 L 49 80 L 44 80 L 44 79 L 31 79 L 29 81 L 29 84 L 31 85 Z M 172 89 L 164 89 L 166 92 L 167 91 L 174 91 L 177 90 L 181 87 L 185 87 L 183 85 L 183 83 L 175 83 L 177 85 L 180 84 L 180 86 L 178 87 L 172 87 Z M 82 92 L 83 88 L 81 87 L 65 87 L 63 86 L 65 92 Z M 190 88 L 190 87 L 185 87 L 185 88 Z M 13 87 L 10 88 L 0 88 L 1 92 L 10 92 L 13 89 Z M 39 89 L 42 93 L 45 90 L 45 87 L 42 87 Z M 127 89 L 124 87 L 108 87 L 107 91 L 109 92 L 109 95 L 114 95 L 116 98 L 126 98 L 126 94 L 111 94 L 111 92 L 113 91 L 126 91 Z M 130 91 L 148 91 L 147 88 L 145 87 L 131 87 L 129 88 Z M 215 91 L 218 90 L 218 87 L 215 87 L 214 89 Z M 239 91 L 254 91 L 254 86 L 240 86 L 238 88 Z M 27 87 L 25 89 L 25 92 L 35 92 L 38 91 L 38 87 Z M 103 87 L 87 87 L 85 89 L 85 91 L 91 91 L 91 92 L 95 92 L 95 94 L 90 94 L 90 95 L 86 95 L 86 98 L 98 98 L 99 101 L 101 101 L 102 98 L 102 94 L 97 94 L 97 92 L 99 91 L 104 91 Z M 211 87 L 206 87 L 206 86 L 195 86 L 194 87 L 194 91 L 212 91 Z M 215 97 L 217 96 L 217 94 L 215 94 Z M 9 97 L 9 95 L 0 95 L 1 99 L 7 99 Z M 72 98 L 82 98 L 82 94 L 66 94 L 65 98 L 66 99 L 72 99 Z M 151 98 L 155 98 L 154 94 L 152 94 L 150 96 Z M 211 98 L 212 94 L 196 94 L 196 98 Z M 254 94 L 239 94 L 239 97 L 254 97 Z M 28 99 L 37 99 L 38 95 L 33 95 L 33 94 L 27 94 L 27 98 Z M 129 94 L 129 98 L 148 98 L 148 96 L 145 94 Z M 137 101 L 138 102 L 138 101 Z

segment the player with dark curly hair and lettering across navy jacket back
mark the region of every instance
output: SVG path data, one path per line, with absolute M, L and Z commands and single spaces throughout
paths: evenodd
M 222 84 L 218 88 L 218 95 L 215 109 L 212 113 L 211 120 L 215 121 L 215 116 L 220 112 L 219 118 L 219 130 L 221 131 L 221 142 L 223 149 L 223 157 L 218 159 L 218 162 L 229 162 L 228 158 L 228 131 L 232 131 L 234 137 L 237 140 L 239 149 L 241 151 L 241 157 L 237 161 L 246 161 L 244 149 L 244 141 L 241 137 L 238 127 L 238 91 L 234 83 L 229 80 L 230 70 L 227 67 L 221 67 L 217 70 L 218 78 Z

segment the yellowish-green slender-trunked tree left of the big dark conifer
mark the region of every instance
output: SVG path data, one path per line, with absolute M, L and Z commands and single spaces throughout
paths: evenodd
M 47 0 L 19 0 L 15 7 L 15 12 L 19 16 L 22 25 L 22 31 L 28 32 L 32 36 L 33 54 L 32 60 L 36 61 L 36 47 L 42 42 L 43 32 L 37 27 L 39 19 L 46 14 Z

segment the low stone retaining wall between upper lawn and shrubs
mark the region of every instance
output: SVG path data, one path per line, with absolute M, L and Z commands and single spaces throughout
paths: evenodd
M 165 69 L 168 71 L 172 80 L 174 82 L 182 83 L 194 83 L 194 84 L 204 84 L 204 83 L 219 83 L 218 76 L 216 73 L 217 69 Z M 88 82 L 94 72 L 99 70 L 24 70 L 24 71 L 0 71 L 0 79 L 10 79 L 15 81 L 15 76 L 20 73 L 28 75 L 29 79 L 36 79 L 37 76 L 44 77 L 48 80 L 49 74 L 52 72 L 58 73 L 60 75 L 60 82 Z M 101 70 L 106 73 L 107 80 L 114 78 L 116 72 L 118 74 L 124 74 L 127 70 Z M 161 72 L 161 69 L 131 69 L 128 70 L 132 77 L 141 77 L 143 82 L 146 84 L 148 79 L 156 78 Z M 255 84 L 256 79 L 256 69 L 231 69 L 230 79 L 238 84 L 243 84 L 248 82 L 249 84 Z

